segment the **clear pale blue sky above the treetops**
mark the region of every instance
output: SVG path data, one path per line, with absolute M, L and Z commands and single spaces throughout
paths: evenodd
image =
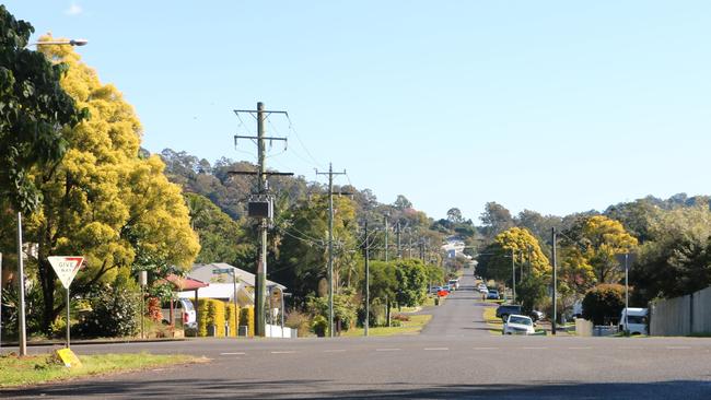
M 88 38 L 153 152 L 255 161 L 232 109 L 263 101 L 295 127 L 272 117 L 272 167 L 313 180 L 310 153 L 434 217 L 711 193 L 708 1 L 4 3 Z

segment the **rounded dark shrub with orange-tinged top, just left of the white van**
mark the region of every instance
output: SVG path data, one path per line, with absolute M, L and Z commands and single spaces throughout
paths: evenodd
M 622 308 L 625 286 L 619 284 L 597 285 L 583 298 L 583 318 L 595 325 L 617 323 Z

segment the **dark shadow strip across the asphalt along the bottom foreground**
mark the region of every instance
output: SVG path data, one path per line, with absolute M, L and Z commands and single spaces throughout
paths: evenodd
M 39 388 L 0 390 L 3 398 L 123 397 L 132 399 L 467 399 L 467 398 L 550 398 L 571 399 L 669 399 L 709 398 L 711 385 L 704 381 L 669 380 L 657 383 L 588 384 L 540 381 L 534 385 L 429 385 L 409 383 L 341 384 L 330 380 L 292 379 L 234 381 L 113 380 L 72 381 Z

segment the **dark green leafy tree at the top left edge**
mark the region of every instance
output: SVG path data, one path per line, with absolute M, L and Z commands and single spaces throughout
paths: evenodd
M 33 32 L 0 4 L 0 200 L 24 213 L 39 205 L 35 180 L 61 161 L 67 130 L 86 117 L 59 84 L 67 66 L 26 48 Z

